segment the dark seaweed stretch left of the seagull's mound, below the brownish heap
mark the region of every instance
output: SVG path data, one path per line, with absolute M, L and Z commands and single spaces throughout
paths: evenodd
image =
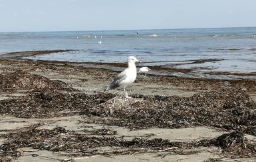
M 51 118 L 78 114 L 82 110 L 106 102 L 113 95 L 86 95 L 82 93 L 61 93 L 43 89 L 30 92 L 25 97 L 0 101 L 0 114 L 19 118 Z

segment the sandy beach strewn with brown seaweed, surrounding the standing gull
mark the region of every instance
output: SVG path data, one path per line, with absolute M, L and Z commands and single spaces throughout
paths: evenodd
M 64 51 L 0 55 L 0 162 L 256 160 L 255 73 L 150 67 L 124 101 L 123 89 L 103 90 L 125 62 L 23 59 Z

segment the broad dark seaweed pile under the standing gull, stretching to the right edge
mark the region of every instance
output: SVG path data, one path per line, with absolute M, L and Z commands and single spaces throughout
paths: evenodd
M 108 101 L 84 110 L 84 114 L 112 116 L 108 124 L 130 129 L 212 126 L 256 135 L 256 104 L 241 91 L 210 91 L 193 97 L 133 97 L 143 100 L 128 105 L 116 100 L 116 106 Z M 102 118 L 97 120 L 94 122 L 103 122 Z

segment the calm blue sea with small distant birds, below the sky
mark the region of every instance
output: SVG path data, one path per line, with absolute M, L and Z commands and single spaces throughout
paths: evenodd
M 138 32 L 138 34 L 137 34 Z M 205 71 L 256 72 L 256 27 L 70 32 L 0 32 L 0 54 L 74 50 L 34 60 L 126 62 Z M 216 61 L 193 63 L 195 60 Z

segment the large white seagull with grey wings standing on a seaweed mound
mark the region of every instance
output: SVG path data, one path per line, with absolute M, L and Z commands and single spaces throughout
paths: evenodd
M 108 85 L 108 87 L 106 87 L 104 91 L 115 89 L 117 87 L 124 87 L 124 97 L 126 99 L 130 99 L 131 97 L 128 97 L 126 87 L 134 83 L 137 77 L 137 69 L 135 65 L 136 62 L 141 63 L 142 61 L 137 60 L 134 56 L 130 56 L 128 58 L 128 67 L 124 69 L 124 71 L 116 75 L 114 81 L 112 81 L 112 83 L 110 83 L 110 85 Z

